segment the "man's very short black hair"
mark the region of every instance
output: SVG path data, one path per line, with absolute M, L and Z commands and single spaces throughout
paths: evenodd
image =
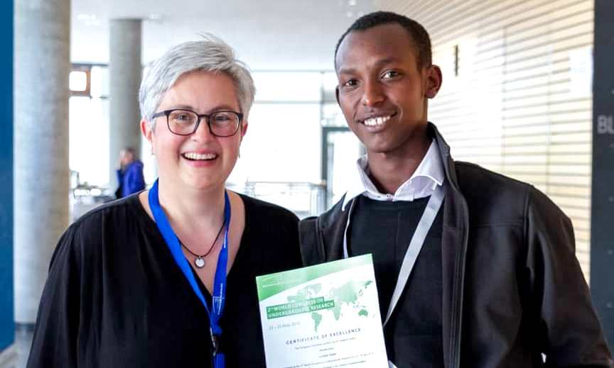
M 414 21 L 413 19 L 402 16 L 401 14 L 393 13 L 392 11 L 375 11 L 374 13 L 368 13 L 358 18 L 348 30 L 343 33 L 337 47 L 335 48 L 335 68 L 337 66 L 337 52 L 339 51 L 339 45 L 343 42 L 348 33 L 354 30 L 367 30 L 375 26 L 381 26 L 382 24 L 397 23 L 409 32 L 412 40 L 416 44 L 418 50 L 418 67 L 430 67 L 431 66 L 431 38 L 429 33 L 426 32 L 424 27 Z

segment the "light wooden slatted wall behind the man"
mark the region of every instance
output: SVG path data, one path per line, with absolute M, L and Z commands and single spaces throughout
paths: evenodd
M 578 55 L 591 56 L 593 1 L 379 0 L 376 6 L 429 31 L 433 62 L 443 70 L 429 119 L 453 156 L 548 194 L 573 221 L 588 279 L 593 101 L 590 72 L 578 72 L 574 63 Z

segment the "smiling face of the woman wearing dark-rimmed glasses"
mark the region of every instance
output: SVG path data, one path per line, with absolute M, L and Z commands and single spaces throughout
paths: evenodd
M 216 190 L 215 198 L 221 199 L 247 131 L 232 79 L 204 70 L 185 73 L 163 96 L 158 111 L 141 121 L 141 129 L 158 174 L 168 178 L 160 183 L 161 191 L 183 198 L 185 191 Z M 156 130 L 154 119 L 163 122 L 156 123 Z

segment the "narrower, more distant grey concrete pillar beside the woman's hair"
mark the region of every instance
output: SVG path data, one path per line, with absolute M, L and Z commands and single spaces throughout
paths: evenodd
M 141 152 L 139 86 L 141 85 L 141 20 L 110 21 L 109 38 L 109 183 L 117 188 L 119 151 Z

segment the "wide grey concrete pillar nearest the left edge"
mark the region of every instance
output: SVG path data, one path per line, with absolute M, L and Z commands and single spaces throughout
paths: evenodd
M 69 222 L 70 0 L 15 1 L 15 320 L 36 320 Z

